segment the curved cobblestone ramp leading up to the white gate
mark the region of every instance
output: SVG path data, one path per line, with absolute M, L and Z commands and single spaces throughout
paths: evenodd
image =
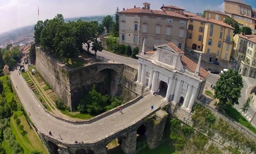
M 147 116 L 147 114 L 153 112 L 165 102 L 161 96 L 148 94 L 137 103 L 124 108 L 124 114 L 116 112 L 91 124 L 73 125 L 46 113 L 22 77 L 17 75 L 16 70 L 11 72 L 11 80 L 14 87 L 17 86 L 16 91 L 21 103 L 31 114 L 31 119 L 38 130 L 44 134 L 48 134 L 50 130 L 56 140 L 58 140 L 58 134 L 60 134 L 63 139 L 62 142 L 67 144 L 72 144 L 75 140 L 94 143 L 111 135 L 113 132 L 129 127 L 132 123 Z M 154 105 L 153 111 L 150 109 L 151 105 Z

